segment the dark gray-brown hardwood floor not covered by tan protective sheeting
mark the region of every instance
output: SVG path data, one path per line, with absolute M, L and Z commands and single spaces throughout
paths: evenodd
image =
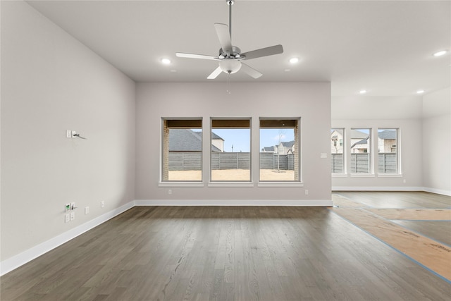
M 381 208 L 451 207 L 440 195 L 371 193 L 342 195 Z M 451 296 L 450 281 L 325 207 L 134 207 L 0 281 L 1 300 Z

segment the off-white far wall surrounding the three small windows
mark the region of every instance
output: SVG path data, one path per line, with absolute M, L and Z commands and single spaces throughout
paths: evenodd
M 401 176 L 371 176 L 332 178 L 333 190 L 422 190 L 422 130 L 421 97 L 333 97 L 333 128 L 400 128 L 398 142 L 401 156 Z M 350 144 L 348 133 L 347 145 Z M 372 152 L 377 152 L 377 140 Z M 374 156 L 373 156 L 374 158 Z M 350 154 L 347 166 L 350 167 Z M 376 166 L 376 161 L 374 162 Z M 375 168 L 377 171 L 377 168 Z

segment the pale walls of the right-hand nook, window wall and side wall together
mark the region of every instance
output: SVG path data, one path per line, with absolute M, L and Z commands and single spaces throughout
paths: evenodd
M 354 96 L 332 97 L 333 128 L 400 128 L 398 176 L 350 176 L 350 154 L 345 157 L 348 173 L 333 176 L 334 190 L 427 190 L 451 195 L 450 88 L 424 97 Z M 377 145 L 372 156 L 376 162 Z M 376 164 L 376 163 L 375 163 Z

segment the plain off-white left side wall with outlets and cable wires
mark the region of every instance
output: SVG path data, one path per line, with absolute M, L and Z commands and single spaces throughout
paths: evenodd
M 2 262 L 132 202 L 134 159 L 135 83 L 25 2 L 1 1 Z M 79 207 L 70 223 L 66 202 Z

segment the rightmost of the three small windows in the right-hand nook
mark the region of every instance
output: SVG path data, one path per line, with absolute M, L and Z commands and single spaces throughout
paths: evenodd
M 378 173 L 399 173 L 398 131 L 378 128 Z

